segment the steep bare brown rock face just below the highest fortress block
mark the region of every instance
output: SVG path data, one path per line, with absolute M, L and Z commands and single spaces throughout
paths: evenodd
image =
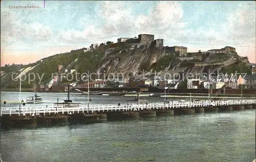
M 160 58 L 167 55 L 164 48 L 156 48 L 154 42 L 135 45 L 134 49 L 129 46 L 116 54 L 105 54 L 103 60 L 106 60 L 98 68 L 98 72 L 105 70 L 106 74 L 123 73 L 125 76 L 132 72 L 150 70 L 152 64 Z M 108 58 L 108 59 L 107 59 Z M 172 60 L 171 60 L 172 61 Z

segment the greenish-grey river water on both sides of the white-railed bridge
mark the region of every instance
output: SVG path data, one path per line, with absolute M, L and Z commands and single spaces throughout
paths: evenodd
M 37 95 L 46 101 L 42 104 L 67 96 Z M 18 93 L 1 92 L 1 100 L 12 98 L 18 100 Z M 76 98 L 82 103 L 87 101 L 86 96 L 76 95 Z M 91 99 L 114 104 L 134 97 Z M 2 130 L 1 154 L 4 161 L 252 161 L 255 109 Z

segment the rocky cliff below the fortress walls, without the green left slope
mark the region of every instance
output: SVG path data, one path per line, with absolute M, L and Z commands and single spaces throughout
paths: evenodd
M 108 50 L 106 50 L 108 51 Z M 121 51 L 113 54 L 106 52 L 103 57 L 102 65 L 97 72 L 105 72 L 106 75 L 113 73 L 123 73 L 129 76 L 132 72 L 140 74 L 144 70 L 150 75 L 155 71 L 169 73 L 208 73 L 221 70 L 225 66 L 239 62 L 248 62 L 235 54 L 205 54 L 203 59 L 180 58 L 176 54 L 169 53 L 166 47 L 156 47 L 152 41 L 144 45 L 136 45 L 131 49 L 129 45 Z M 196 63 L 196 65 L 195 65 Z

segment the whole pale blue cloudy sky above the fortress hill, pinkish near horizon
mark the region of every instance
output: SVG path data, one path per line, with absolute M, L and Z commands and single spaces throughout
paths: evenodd
M 188 52 L 236 48 L 255 59 L 255 1 L 1 1 L 1 66 L 154 34 Z M 11 6 L 38 6 L 13 9 Z

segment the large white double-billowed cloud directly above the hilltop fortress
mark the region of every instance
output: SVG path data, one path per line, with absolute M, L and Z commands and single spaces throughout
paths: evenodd
M 139 16 L 134 15 L 134 8 L 124 2 L 104 1 L 98 8 L 100 10 L 96 19 L 103 18 L 103 26 L 97 28 L 90 25 L 83 31 L 61 31 L 59 40 L 69 43 L 106 41 L 136 33 L 151 33 L 166 38 L 180 33 L 185 26 L 185 23 L 181 22 L 183 11 L 177 2 L 160 2 L 149 15 Z M 81 20 L 79 23 L 81 24 Z

